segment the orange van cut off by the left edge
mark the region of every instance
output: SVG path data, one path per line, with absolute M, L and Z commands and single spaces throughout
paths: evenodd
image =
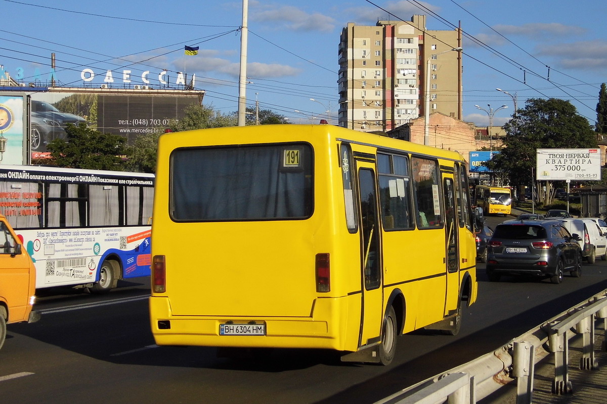
M 36 291 L 36 268 L 22 240 L 4 215 L 0 214 L 0 348 L 6 338 L 6 325 L 38 321 L 32 310 Z

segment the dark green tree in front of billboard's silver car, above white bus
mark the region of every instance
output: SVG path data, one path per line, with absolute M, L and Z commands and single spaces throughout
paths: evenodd
M 124 170 L 124 137 L 101 133 L 84 122 L 78 126 L 67 124 L 66 134 L 67 139 L 55 139 L 47 145 L 54 164 L 89 170 Z

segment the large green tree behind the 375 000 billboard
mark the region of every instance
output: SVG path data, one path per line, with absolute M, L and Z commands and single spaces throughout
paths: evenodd
M 506 137 L 499 154 L 486 162 L 490 170 L 503 174 L 509 184 L 519 189 L 532 185 L 538 148 L 597 147 L 596 133 L 588 120 L 577 113 L 569 101 L 556 98 L 532 98 L 504 125 Z M 555 190 L 546 182 L 546 192 L 538 187 L 538 200 L 551 203 Z

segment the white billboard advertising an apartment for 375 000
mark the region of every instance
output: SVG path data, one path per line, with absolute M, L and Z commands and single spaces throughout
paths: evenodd
M 537 149 L 537 180 L 600 180 L 601 151 L 591 149 Z

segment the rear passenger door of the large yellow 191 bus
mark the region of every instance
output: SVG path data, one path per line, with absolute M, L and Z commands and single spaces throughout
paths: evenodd
M 359 346 L 379 342 L 383 319 L 382 248 L 375 164 L 358 161 L 362 313 Z

